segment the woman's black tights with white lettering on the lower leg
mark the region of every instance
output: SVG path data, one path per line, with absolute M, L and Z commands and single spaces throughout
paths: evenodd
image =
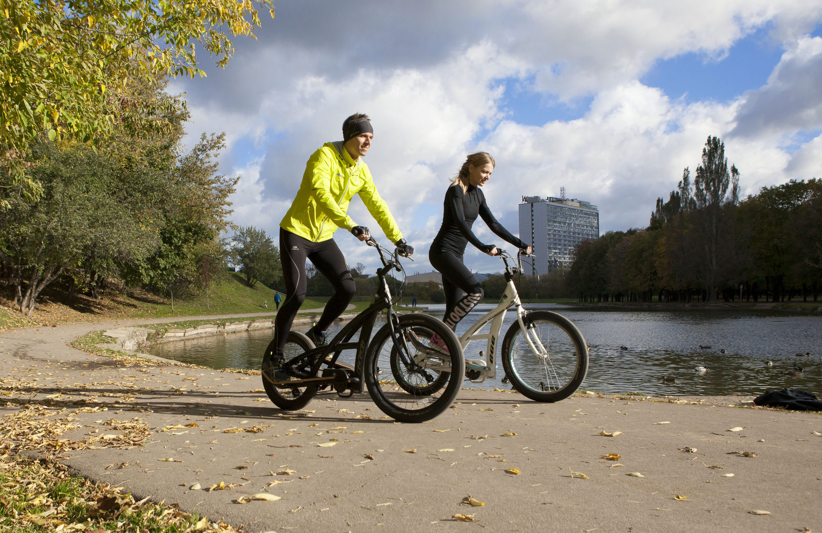
M 462 258 L 449 252 L 428 254 L 432 267 L 442 274 L 442 290 L 446 292 L 446 316 L 442 321 L 454 330 L 459 320 L 483 299 L 483 286 L 465 267 Z M 461 298 L 460 292 L 465 292 Z

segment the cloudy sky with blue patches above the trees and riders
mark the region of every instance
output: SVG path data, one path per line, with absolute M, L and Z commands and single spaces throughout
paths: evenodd
M 490 152 L 494 214 L 518 234 L 523 195 L 598 205 L 600 232 L 645 227 L 658 196 L 720 137 L 744 194 L 822 177 L 819 0 L 278 0 L 224 70 L 174 80 L 190 142 L 225 131 L 242 179 L 233 221 L 274 237 L 305 162 L 351 113 L 366 161 L 427 272 L 442 198 L 467 154 Z M 376 230 L 355 198 L 349 214 Z M 480 239 L 499 245 L 478 221 Z M 377 230 L 376 232 L 379 235 Z M 382 241 L 386 241 L 384 236 Z M 349 264 L 376 265 L 347 232 Z M 510 246 L 508 246 L 510 248 Z M 479 272 L 499 260 L 469 246 Z

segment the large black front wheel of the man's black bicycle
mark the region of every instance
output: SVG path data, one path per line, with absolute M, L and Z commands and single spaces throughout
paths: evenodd
M 462 347 L 454 332 L 430 315 L 400 316 L 395 333 L 398 340 L 404 339 L 408 352 L 395 346 L 390 324 L 376 332 L 368 345 L 364 361 L 368 393 L 395 420 L 431 420 L 450 407 L 462 386 Z M 446 350 L 432 345 L 435 334 L 445 342 Z M 391 375 L 381 375 L 389 369 Z

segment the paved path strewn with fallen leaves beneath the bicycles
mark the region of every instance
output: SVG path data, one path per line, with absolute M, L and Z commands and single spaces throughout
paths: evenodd
M 466 389 L 435 420 L 399 424 L 367 396 L 321 395 L 288 413 L 259 375 L 67 347 L 137 322 L 0 333 L 0 415 L 30 407 L 21 420 L 44 431 L 32 448 L 64 439 L 67 464 L 136 498 L 246 531 L 822 531 L 814 413 L 593 394 L 540 404 Z M 146 443 L 129 447 L 140 434 Z M 621 457 L 603 458 L 612 453 Z M 229 488 L 208 491 L 220 483 Z M 237 503 L 261 492 L 281 499 Z M 469 494 L 485 504 L 465 505 Z

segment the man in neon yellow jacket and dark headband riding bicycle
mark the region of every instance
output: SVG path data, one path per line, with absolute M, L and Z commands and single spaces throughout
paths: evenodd
M 326 143 L 308 159 L 297 196 L 279 223 L 285 300 L 275 318 L 275 353 L 262 369 L 263 377 L 272 383 L 289 379 L 284 368 L 284 348 L 294 316 L 305 301 L 306 260 L 314 264 L 335 290 L 319 321 L 306 333 L 316 346 L 327 343 L 326 329 L 343 313 L 356 291 L 348 264 L 332 238 L 338 227 L 349 230 L 360 241 L 371 238 L 367 227 L 358 225 L 346 214 L 353 195 L 360 196 L 386 237 L 403 255 L 413 254 L 413 247 L 399 232 L 363 161 L 373 138 L 374 130 L 367 115 L 356 113 L 346 118 L 343 140 Z

